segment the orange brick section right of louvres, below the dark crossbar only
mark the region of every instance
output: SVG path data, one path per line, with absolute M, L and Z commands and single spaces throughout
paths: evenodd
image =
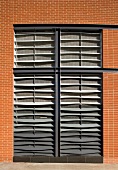
M 118 163 L 118 73 L 103 74 L 103 156 Z

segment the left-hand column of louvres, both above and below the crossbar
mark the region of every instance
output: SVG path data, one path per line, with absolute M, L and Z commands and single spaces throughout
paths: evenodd
M 54 65 L 54 32 L 15 32 L 15 67 Z M 54 74 L 14 74 L 14 155 L 54 156 Z

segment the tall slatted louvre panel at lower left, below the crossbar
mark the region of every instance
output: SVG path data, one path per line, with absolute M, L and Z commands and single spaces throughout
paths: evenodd
M 54 156 L 54 75 L 15 75 L 14 152 Z

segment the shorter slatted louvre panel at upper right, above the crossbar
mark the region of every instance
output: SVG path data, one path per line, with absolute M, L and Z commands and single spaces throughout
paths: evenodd
M 61 32 L 61 66 L 92 67 L 101 66 L 99 32 Z

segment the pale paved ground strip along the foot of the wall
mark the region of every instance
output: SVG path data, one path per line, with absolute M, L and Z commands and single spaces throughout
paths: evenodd
M 118 170 L 118 164 L 0 163 L 0 170 Z

